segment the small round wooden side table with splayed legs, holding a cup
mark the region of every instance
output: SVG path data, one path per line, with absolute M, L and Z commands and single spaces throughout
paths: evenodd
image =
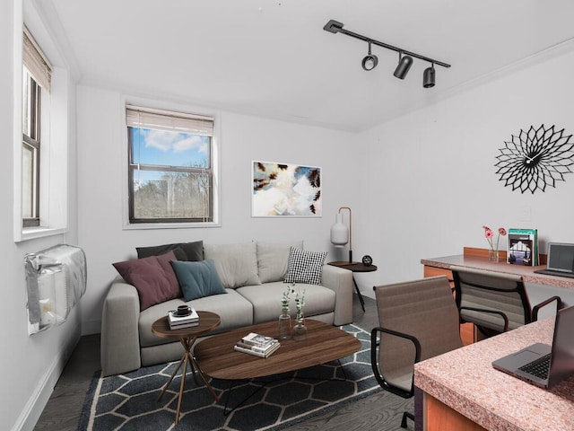
M 190 328 L 171 330 L 170 322 L 168 321 L 167 316 L 162 317 L 161 319 L 158 319 L 157 321 L 154 321 L 152 323 L 153 334 L 155 334 L 157 337 L 161 337 L 162 339 L 178 339 L 184 348 L 184 353 L 183 356 L 181 356 L 179 365 L 173 371 L 173 374 L 171 374 L 168 383 L 165 383 L 165 386 L 163 386 L 163 390 L 161 391 L 161 394 L 158 397 L 158 400 L 161 400 L 161 397 L 163 397 L 163 394 L 170 386 L 171 381 L 173 381 L 173 378 L 178 373 L 179 368 L 181 368 L 181 365 L 183 365 L 183 370 L 181 372 L 181 383 L 179 383 L 178 409 L 176 410 L 176 424 L 179 421 L 179 411 L 181 410 L 181 399 L 183 398 L 183 392 L 186 386 L 187 364 L 189 364 L 189 366 L 191 367 L 192 374 L 194 375 L 194 380 L 196 380 L 196 368 L 197 368 L 197 371 L 199 372 L 200 377 L 204 381 L 205 386 L 212 393 L 213 398 L 216 401 L 219 401 L 219 397 L 215 394 L 215 391 L 213 391 L 211 383 L 209 383 L 209 381 L 205 378 L 204 374 L 201 372 L 201 369 L 199 369 L 199 366 L 197 366 L 196 358 L 191 354 L 190 350 L 191 347 L 194 345 L 194 342 L 196 341 L 197 337 L 204 335 L 205 333 L 214 330 L 219 326 L 221 318 L 219 317 L 218 314 L 215 314 L 214 312 L 197 312 L 197 314 L 199 314 L 199 325 L 192 326 Z

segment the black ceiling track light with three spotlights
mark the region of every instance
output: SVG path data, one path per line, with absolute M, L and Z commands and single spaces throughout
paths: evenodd
M 450 67 L 450 65 L 448 65 L 447 63 L 435 60 L 434 58 L 424 57 L 420 54 L 416 54 L 414 52 L 407 51 L 402 48 L 396 48 L 392 45 L 388 45 L 387 43 L 379 42 L 378 40 L 370 39 L 359 33 L 354 33 L 352 31 L 345 30 L 343 26 L 344 24 L 341 22 L 330 20 L 325 24 L 323 30 L 329 31 L 330 33 L 343 33 L 346 34 L 347 36 L 351 36 L 352 38 L 364 40 L 365 42 L 369 43 L 369 55 L 367 55 L 367 57 L 364 57 L 361 62 L 361 66 L 365 70 L 373 70 L 378 64 L 378 57 L 375 56 L 374 54 L 371 54 L 370 51 L 371 44 L 377 45 L 378 47 L 391 49 L 399 53 L 399 62 L 398 65 L 396 66 L 395 73 L 393 74 L 399 79 L 404 79 L 406 74 L 408 74 L 409 69 L 411 68 L 411 66 L 413 66 L 413 57 L 431 63 L 431 67 L 427 67 L 422 75 L 422 86 L 424 88 L 434 87 L 436 77 L 434 68 L 435 65 L 442 67 Z

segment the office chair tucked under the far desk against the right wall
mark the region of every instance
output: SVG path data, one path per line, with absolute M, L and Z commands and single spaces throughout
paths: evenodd
M 482 269 L 451 267 L 460 321 L 471 322 L 485 337 L 514 330 L 538 319 L 539 310 L 556 302 L 562 308 L 560 296 L 552 296 L 530 306 L 521 276 Z

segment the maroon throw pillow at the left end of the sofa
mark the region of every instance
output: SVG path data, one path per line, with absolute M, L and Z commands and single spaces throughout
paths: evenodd
M 181 296 L 178 278 L 170 265 L 170 260 L 174 259 L 176 259 L 175 254 L 170 251 L 161 256 L 113 264 L 126 282 L 137 289 L 140 297 L 140 311 L 156 303 L 163 303 Z

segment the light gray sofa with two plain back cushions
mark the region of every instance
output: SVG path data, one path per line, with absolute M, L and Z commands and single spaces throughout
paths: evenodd
M 281 299 L 287 284 L 291 245 L 302 242 L 242 242 L 203 244 L 204 259 L 213 259 L 225 287 L 224 295 L 188 301 L 197 311 L 216 312 L 221 325 L 211 335 L 265 321 L 281 314 Z M 305 290 L 306 318 L 333 325 L 352 322 L 352 272 L 322 265 L 320 285 L 296 283 Z M 292 296 L 292 295 L 291 295 Z M 186 303 L 183 297 L 157 303 L 140 312 L 135 286 L 117 277 L 105 297 L 101 322 L 101 368 L 103 375 L 121 374 L 143 365 L 160 364 L 180 358 L 179 342 L 152 334 L 152 322 Z M 290 312 L 295 305 L 291 298 Z

